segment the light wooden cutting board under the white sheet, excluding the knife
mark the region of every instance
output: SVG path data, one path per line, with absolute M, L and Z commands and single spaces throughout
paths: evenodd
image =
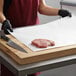
M 17 39 L 15 39 L 13 36 L 8 35 L 8 37 L 11 38 L 11 40 L 16 42 L 18 45 L 23 47 L 28 52 L 23 53 L 12 47 L 9 47 L 8 45 L 6 45 L 6 41 L 0 39 L 0 49 L 5 54 L 9 55 L 9 57 L 11 57 L 18 64 L 29 64 L 43 60 L 54 59 L 58 57 L 76 54 L 76 44 L 34 52 L 26 45 L 22 44 Z

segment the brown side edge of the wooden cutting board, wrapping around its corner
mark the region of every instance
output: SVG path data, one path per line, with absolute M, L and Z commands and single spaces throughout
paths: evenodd
M 13 53 L 12 51 L 9 51 L 6 46 L 3 46 L 3 44 L 0 43 L 0 46 L 3 47 L 3 52 L 7 53 L 13 60 L 15 60 L 18 64 L 30 64 L 34 62 L 39 62 L 39 61 L 44 61 L 48 59 L 54 59 L 54 58 L 59 58 L 63 56 L 68 56 L 68 55 L 74 55 L 76 54 L 76 45 L 72 46 L 66 46 L 65 49 L 64 47 L 61 47 L 62 49 L 59 50 L 59 48 L 55 48 L 56 52 L 48 52 L 48 53 L 41 53 L 38 55 L 31 55 L 27 58 L 22 58 L 19 57 L 16 53 Z M 7 51 L 7 52 L 6 52 Z M 11 53 L 11 55 L 10 55 Z

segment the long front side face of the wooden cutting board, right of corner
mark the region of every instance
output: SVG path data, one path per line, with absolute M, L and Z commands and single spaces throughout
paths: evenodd
M 73 51 L 73 52 L 71 52 L 71 51 Z M 55 58 L 59 58 L 59 57 L 69 56 L 69 55 L 76 55 L 76 48 L 64 50 L 64 51 L 61 51 L 61 52 L 57 51 L 57 52 L 54 52 L 54 53 L 49 53 L 49 54 L 47 53 L 47 54 L 43 54 L 43 55 L 23 58 L 23 59 L 20 59 L 18 61 L 18 63 L 21 64 L 21 65 L 30 64 L 30 63 L 46 61 L 46 60 L 49 60 L 49 59 L 55 59 Z M 29 62 L 29 61 L 31 61 L 31 62 Z

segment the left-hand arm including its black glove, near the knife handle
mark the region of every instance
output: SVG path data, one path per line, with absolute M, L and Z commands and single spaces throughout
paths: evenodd
M 6 17 L 4 16 L 3 6 L 4 6 L 4 0 L 0 0 L 0 23 L 2 23 L 2 27 L 5 34 L 9 34 L 9 31 L 13 32 L 13 29 L 11 27 L 10 21 L 6 19 Z

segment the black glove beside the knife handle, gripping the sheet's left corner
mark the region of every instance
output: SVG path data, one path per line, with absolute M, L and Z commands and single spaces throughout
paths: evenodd
M 2 23 L 2 28 L 3 28 L 5 34 L 10 34 L 9 31 L 10 31 L 10 32 L 13 32 L 13 29 L 12 29 L 12 26 L 11 26 L 9 20 L 5 20 L 5 21 Z M 8 31 L 8 30 L 9 30 L 9 31 Z

